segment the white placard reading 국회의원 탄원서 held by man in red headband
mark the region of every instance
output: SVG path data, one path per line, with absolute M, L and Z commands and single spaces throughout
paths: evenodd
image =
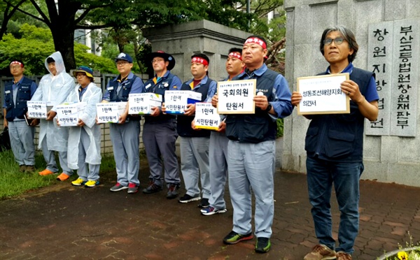
M 219 114 L 254 114 L 257 80 L 232 80 L 217 82 Z

